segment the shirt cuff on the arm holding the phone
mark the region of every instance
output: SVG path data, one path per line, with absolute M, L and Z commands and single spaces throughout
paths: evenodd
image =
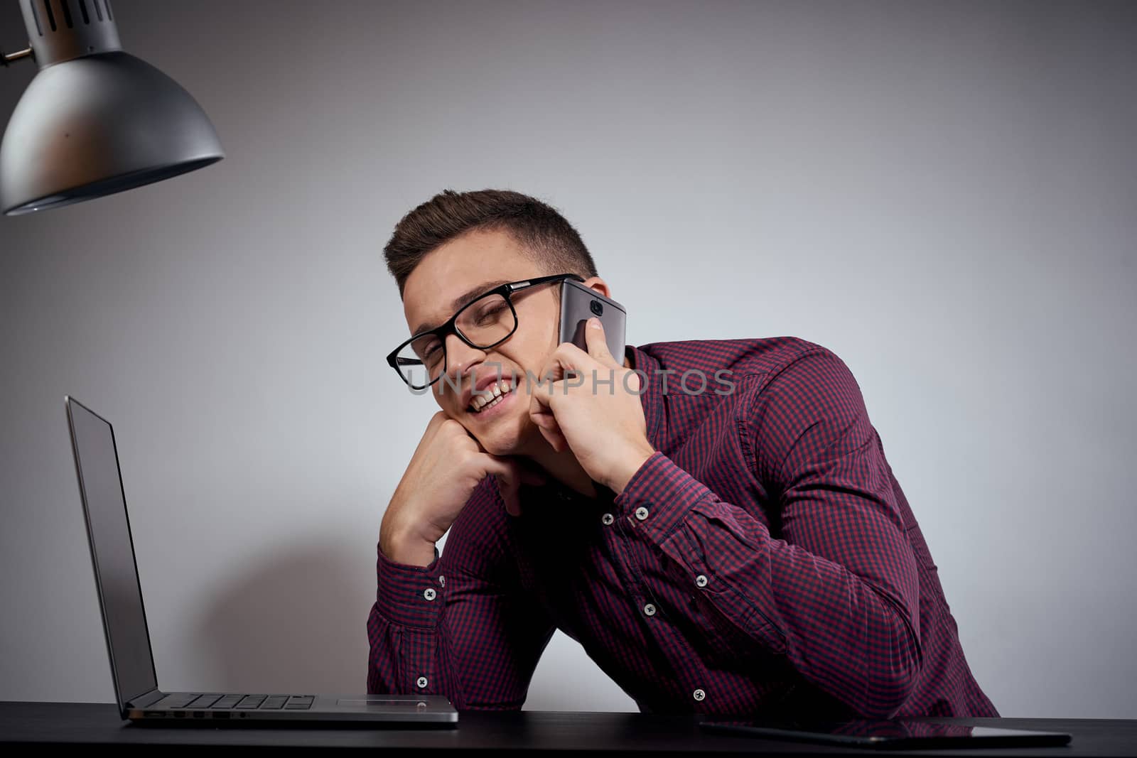
M 713 497 L 705 484 L 656 450 L 612 502 L 633 534 L 662 543 L 695 503 Z

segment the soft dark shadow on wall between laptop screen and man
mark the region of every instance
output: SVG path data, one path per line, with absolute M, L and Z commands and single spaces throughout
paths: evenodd
M 266 553 L 222 585 L 197 638 L 210 688 L 256 692 L 365 692 L 366 616 L 359 567 L 342 543 Z

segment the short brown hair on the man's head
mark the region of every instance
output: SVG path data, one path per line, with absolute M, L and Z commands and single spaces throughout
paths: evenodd
M 551 206 L 509 190 L 443 190 L 404 216 L 383 248 L 399 298 L 426 253 L 475 230 L 508 232 L 546 274 L 597 276 L 580 234 Z

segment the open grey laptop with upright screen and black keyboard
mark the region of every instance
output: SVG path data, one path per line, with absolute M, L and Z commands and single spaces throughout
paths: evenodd
M 123 719 L 141 724 L 289 724 L 338 722 L 454 726 L 458 711 L 439 694 L 312 694 L 306 692 L 165 692 L 150 645 L 142 589 L 126 513 L 115 431 L 65 397 L 75 470 L 86 517 L 102 627 Z

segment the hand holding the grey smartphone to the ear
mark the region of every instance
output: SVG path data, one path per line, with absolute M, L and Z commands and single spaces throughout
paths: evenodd
M 584 340 L 588 352 L 563 342 L 549 356 L 529 417 L 554 450 L 571 448 L 595 482 L 620 494 L 655 452 L 638 394 L 642 380 L 608 352 L 598 318 L 589 318 Z

